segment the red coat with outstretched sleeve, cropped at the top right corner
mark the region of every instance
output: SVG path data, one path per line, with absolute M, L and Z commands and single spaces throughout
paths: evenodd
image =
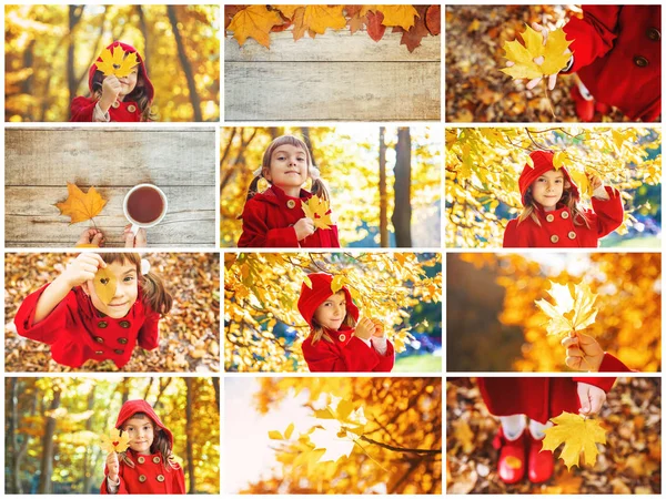
M 662 7 L 584 6 L 565 27 L 581 81 L 599 102 L 627 116 L 655 121 L 662 113 Z

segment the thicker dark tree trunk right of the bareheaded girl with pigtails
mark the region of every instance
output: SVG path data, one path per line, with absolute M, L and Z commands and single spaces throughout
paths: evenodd
M 395 144 L 395 205 L 393 228 L 397 247 L 412 246 L 412 138 L 408 128 L 397 129 Z

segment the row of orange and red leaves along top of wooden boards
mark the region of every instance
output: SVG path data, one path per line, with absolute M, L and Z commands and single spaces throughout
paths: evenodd
M 349 26 L 354 34 L 365 28 L 372 40 L 379 42 L 386 28 L 402 33 L 401 44 L 413 52 L 424 37 L 441 31 L 440 6 L 225 6 L 224 29 L 242 47 L 253 38 L 266 49 L 270 33 L 292 28 L 294 41 L 306 33 L 311 38 L 326 30 L 342 30 Z

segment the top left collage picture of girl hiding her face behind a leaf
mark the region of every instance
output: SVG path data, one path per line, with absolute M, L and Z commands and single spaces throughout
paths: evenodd
M 4 8 L 6 122 L 220 119 L 220 6 Z

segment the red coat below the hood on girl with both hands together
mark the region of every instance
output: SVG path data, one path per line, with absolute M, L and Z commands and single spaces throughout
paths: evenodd
M 311 373 L 390 373 L 393 369 L 395 350 L 391 342 L 386 342 L 386 353 L 380 355 L 354 336 L 354 329 L 349 326 L 326 333 L 333 343 L 321 338 L 313 345 L 312 335 L 303 342 L 303 357 Z

